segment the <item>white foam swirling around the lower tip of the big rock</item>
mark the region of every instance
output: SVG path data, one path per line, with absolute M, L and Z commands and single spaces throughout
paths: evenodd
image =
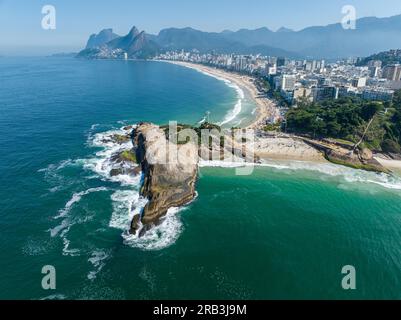
M 179 217 L 179 208 L 170 208 L 157 226 L 153 226 L 142 237 L 123 234 L 124 243 L 130 247 L 145 251 L 158 251 L 173 245 L 179 238 L 183 225 Z

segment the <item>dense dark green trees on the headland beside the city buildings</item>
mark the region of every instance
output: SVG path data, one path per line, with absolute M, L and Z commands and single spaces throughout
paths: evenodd
M 287 113 L 286 121 L 289 132 L 341 139 L 386 153 L 401 151 L 401 91 L 396 92 L 392 103 L 357 98 L 301 101 Z

